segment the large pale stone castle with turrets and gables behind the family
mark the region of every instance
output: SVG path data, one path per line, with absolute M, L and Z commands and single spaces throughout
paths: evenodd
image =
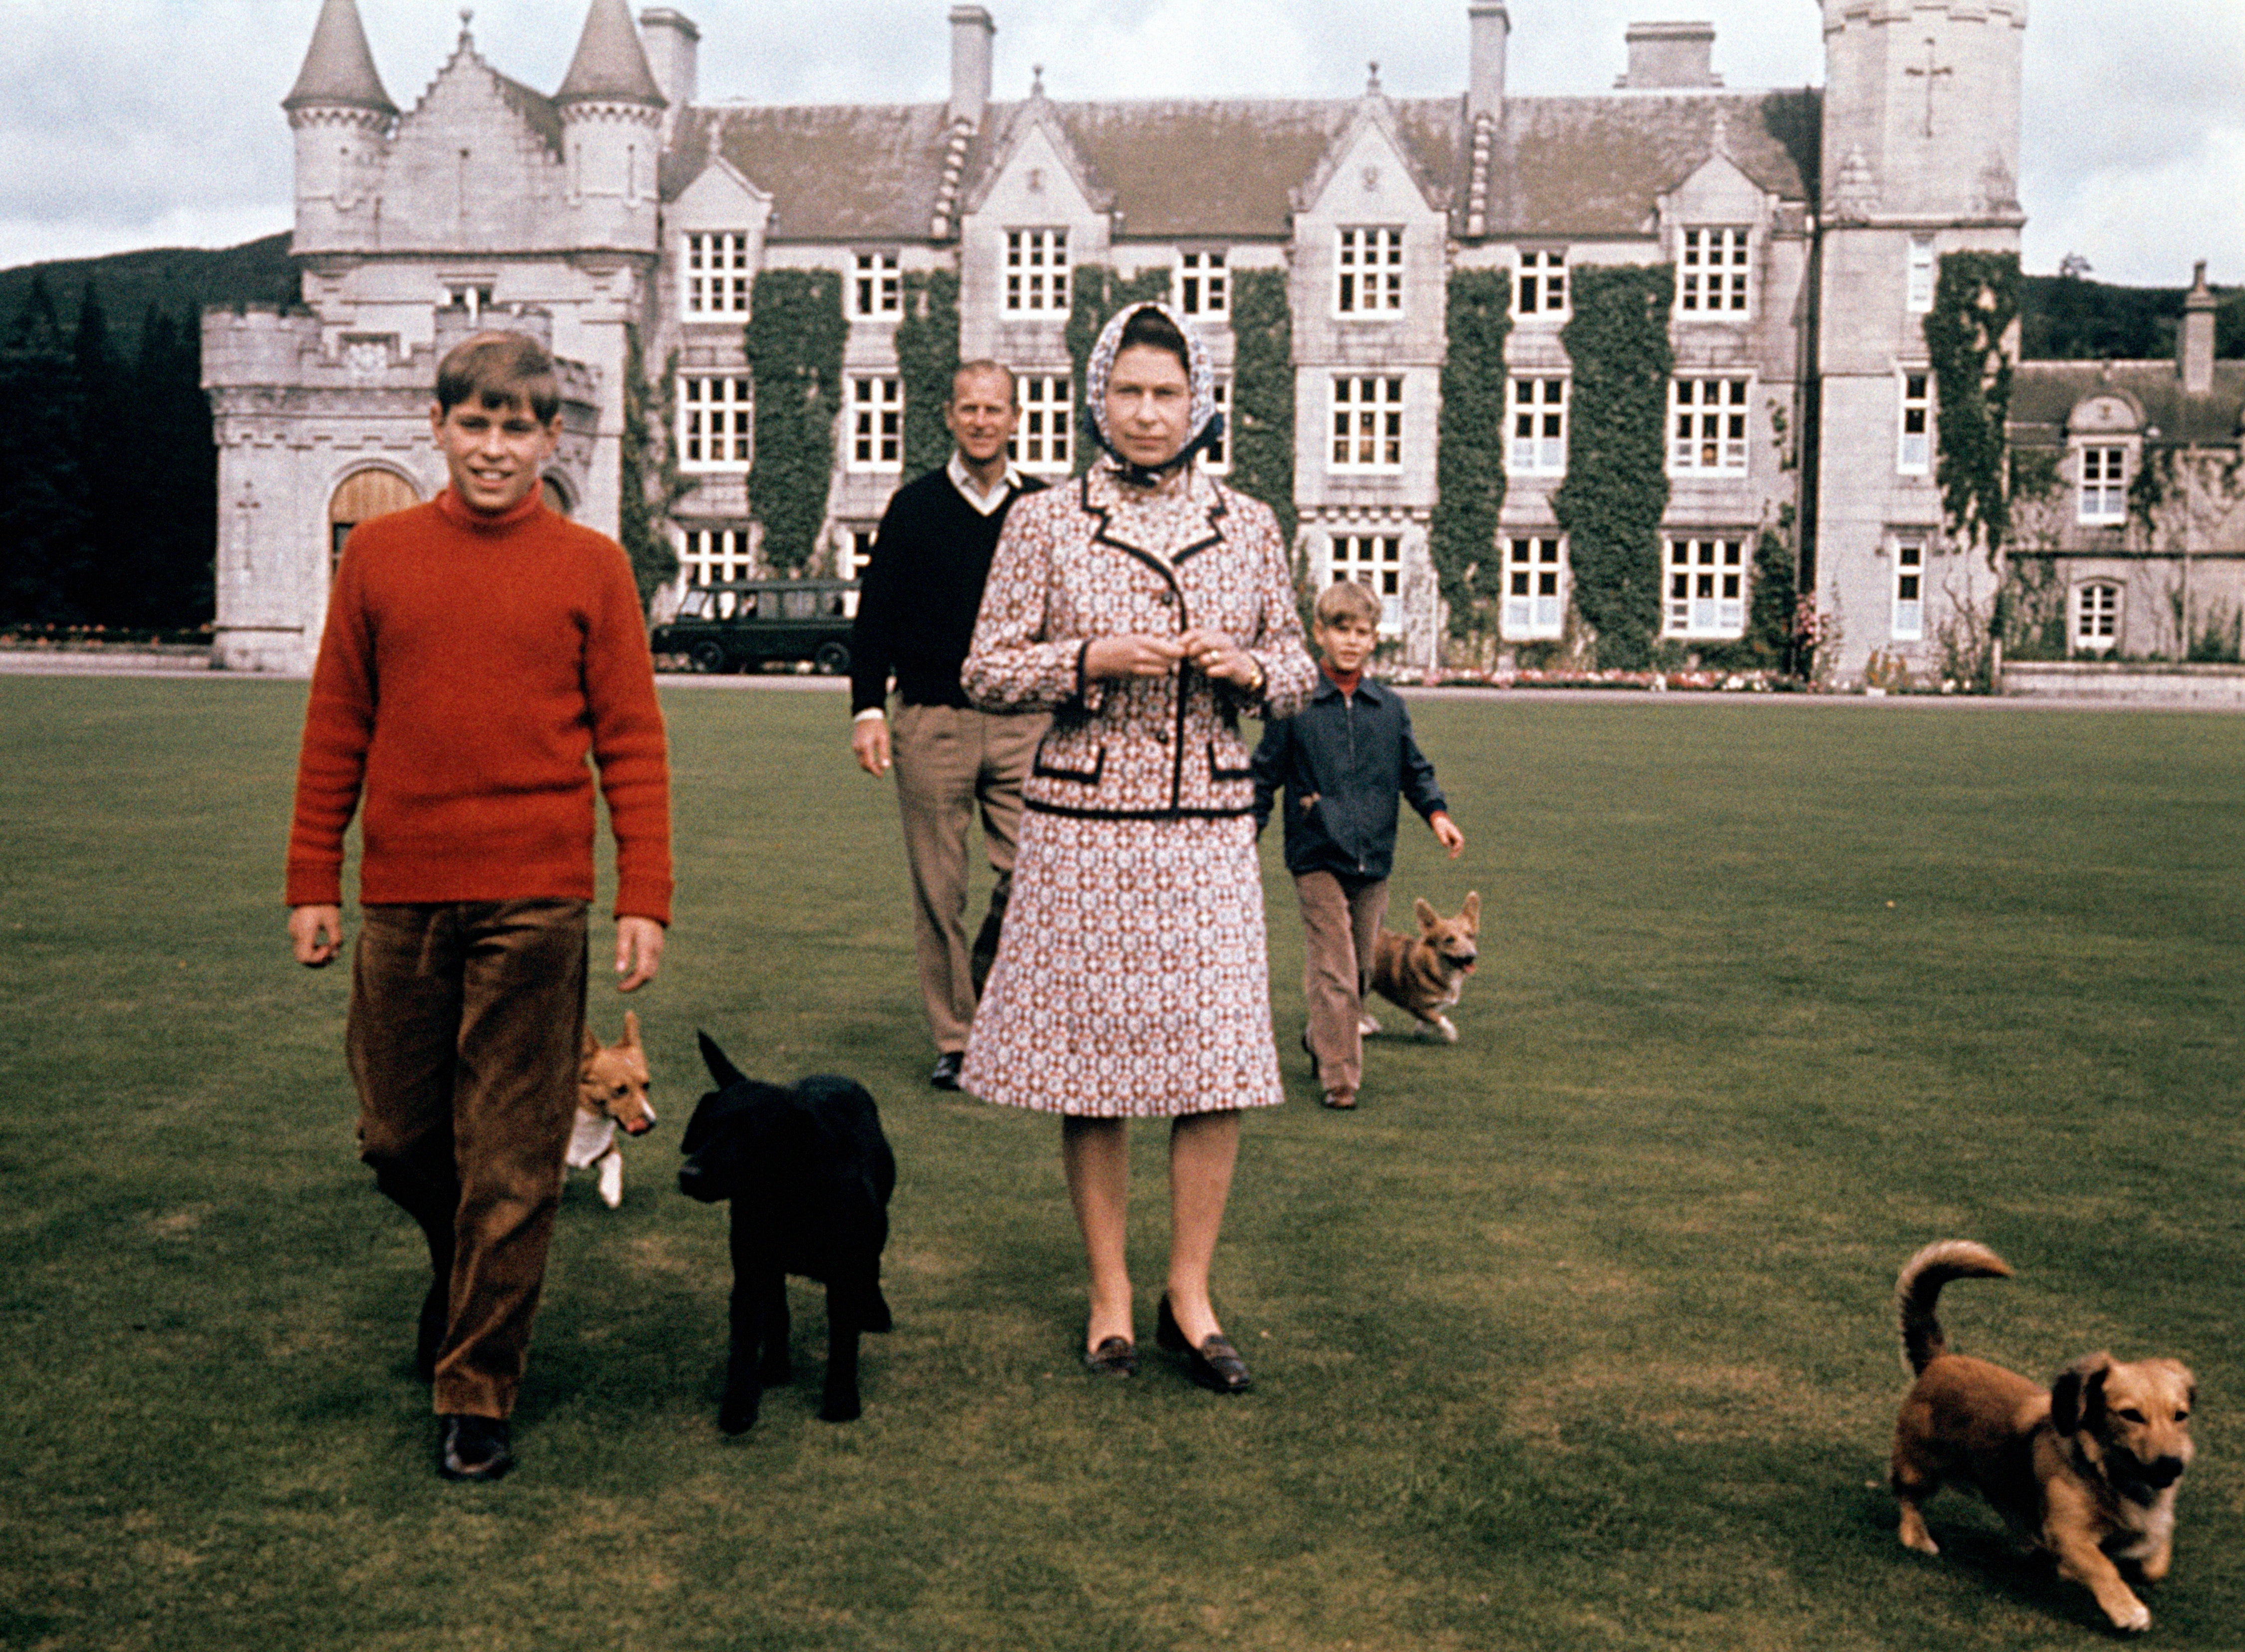
M 1055 101 L 1039 79 L 995 101 L 995 22 L 959 4 L 945 103 L 757 108 L 703 101 L 700 36 L 680 11 L 633 22 L 624 0 L 590 0 L 555 92 L 485 63 L 462 20 L 400 110 L 355 0 L 323 0 L 283 103 L 303 303 L 204 319 L 220 662 L 308 669 L 348 527 L 442 485 L 427 431 L 438 355 L 494 321 L 563 361 L 548 476 L 561 510 L 617 527 L 638 343 L 671 375 L 669 435 L 694 483 L 667 523 L 680 581 L 757 572 L 743 323 L 754 276 L 781 267 L 842 281 L 819 541 L 840 575 L 902 480 L 905 276 L 956 276 L 961 355 L 1021 375 L 1017 460 L 1066 474 L 1082 429 L 1064 339 L 1078 272 L 1163 272 L 1219 373 L 1237 276 L 1280 272 L 1302 559 L 1313 579 L 1381 590 L 1414 664 L 1437 660 L 1444 633 L 1428 523 L 1448 276 L 1506 269 L 1506 492 L 1488 566 L 1504 581 L 1500 646 L 1556 642 L 1572 624 L 1551 505 L 1569 462 L 1572 276 L 1666 263 L 1661 635 L 1738 637 L 1756 539 L 1785 525 L 1825 615 L 1827 671 L 1937 671 L 1944 626 L 1985 613 L 1996 575 L 1942 527 L 1922 321 L 1944 254 L 2018 249 L 2025 0 L 1823 0 L 1821 90 L 1726 88 L 1711 27 L 1634 25 L 1628 74 L 1601 97 L 1511 92 L 1506 4 L 1466 13 L 1464 92 L 1444 99 L 1392 99 L 1374 72 L 1354 99 Z M 2144 400 L 2131 406 L 2142 444 Z M 2090 447 L 2101 478 L 2113 442 Z

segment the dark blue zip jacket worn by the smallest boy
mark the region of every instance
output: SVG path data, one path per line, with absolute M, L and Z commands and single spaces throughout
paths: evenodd
M 1286 792 L 1286 871 L 1329 871 L 1343 878 L 1385 878 L 1396 857 L 1396 804 L 1410 799 L 1421 817 L 1446 813 L 1410 734 L 1403 696 L 1372 678 L 1343 694 L 1322 671 L 1309 707 L 1264 727 L 1255 747 L 1255 830 L 1271 819 L 1271 801 Z

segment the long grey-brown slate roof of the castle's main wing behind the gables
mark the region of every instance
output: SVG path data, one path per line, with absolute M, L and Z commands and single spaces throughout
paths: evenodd
M 1363 99 L 992 103 L 968 146 L 963 193 L 974 195 L 1015 128 L 1042 112 L 1073 144 L 1093 193 L 1111 198 L 1120 238 L 1282 240 L 1293 191 L 1360 110 Z M 1435 202 L 1461 215 L 1464 99 L 1392 99 L 1385 114 Z M 1643 233 L 1655 200 L 1715 150 L 1717 117 L 1747 177 L 1780 200 L 1816 200 L 1814 90 L 1506 99 L 1488 233 Z M 925 240 L 947 139 L 943 103 L 703 105 L 678 123 L 665 195 L 721 153 L 775 198 L 777 240 Z

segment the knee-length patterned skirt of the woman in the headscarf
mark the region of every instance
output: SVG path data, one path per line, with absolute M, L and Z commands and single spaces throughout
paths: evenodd
M 1089 1118 L 1280 1104 L 1255 822 L 1026 813 L 959 1084 Z

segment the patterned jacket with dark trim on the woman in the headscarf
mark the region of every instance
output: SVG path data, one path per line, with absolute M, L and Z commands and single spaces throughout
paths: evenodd
M 1192 494 L 1154 516 L 1125 505 L 1100 469 L 1019 498 L 1006 516 L 961 682 L 988 712 L 1053 712 L 1021 792 L 1033 810 L 1246 815 L 1255 772 L 1239 714 L 1291 716 L 1318 687 L 1271 507 L 1194 476 Z M 1084 678 L 1084 651 L 1100 637 L 1192 628 L 1224 631 L 1255 655 L 1264 694 L 1192 667 Z

